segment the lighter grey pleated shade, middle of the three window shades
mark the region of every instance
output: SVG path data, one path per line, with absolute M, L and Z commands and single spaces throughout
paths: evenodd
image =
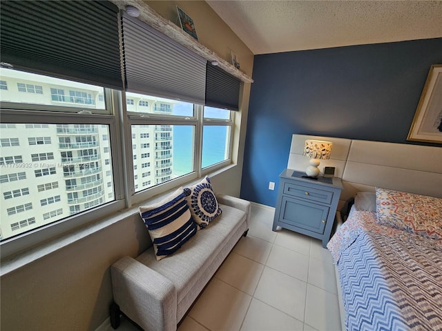
M 206 60 L 122 13 L 126 90 L 204 104 Z

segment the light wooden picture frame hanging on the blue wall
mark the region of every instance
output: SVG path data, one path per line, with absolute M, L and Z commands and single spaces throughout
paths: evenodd
M 442 143 L 442 65 L 431 66 L 407 140 Z

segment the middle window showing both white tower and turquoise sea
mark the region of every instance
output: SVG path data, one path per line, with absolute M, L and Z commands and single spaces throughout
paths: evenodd
M 195 132 L 198 121 L 193 103 L 126 92 L 136 108 L 127 108 L 131 123 L 133 172 L 152 165 L 133 178 L 133 192 L 195 173 Z M 145 115 L 141 115 L 144 113 Z M 148 115 L 147 115 L 148 114 Z M 148 179 L 148 181 L 146 181 Z M 176 185 L 176 184 L 175 184 Z M 140 198 L 141 199 L 141 198 Z

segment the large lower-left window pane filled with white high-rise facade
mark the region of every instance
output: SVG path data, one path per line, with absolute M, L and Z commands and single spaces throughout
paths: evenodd
M 15 116 L 12 114 L 11 116 Z M 57 118 L 52 117 L 53 118 Z M 23 120 L 23 118 L 21 118 Z M 68 121 L 66 117 L 60 120 Z M 70 119 L 71 121 L 74 119 Z M 76 124 L 49 124 L 46 137 L 26 137 L 34 134 L 34 129 L 26 128 L 26 124 L 15 123 L 17 129 L 2 129 L 3 134 L 16 134 L 17 139 L 26 141 L 24 146 L 7 147 L 11 152 L 21 152 L 20 157 L 5 157 L 4 164 L 1 169 L 2 185 L 1 194 L 5 197 L 5 208 L 8 211 L 1 215 L 1 229 L 3 239 L 15 236 L 21 233 L 21 230 L 28 231 L 38 228 L 54 221 L 61 221 L 75 216 L 79 212 L 83 212 L 97 205 L 114 201 L 109 198 L 109 193 L 114 194 L 113 185 L 108 186 L 104 182 L 105 174 L 107 179 L 113 178 L 113 165 L 110 162 L 110 153 L 112 146 L 110 141 L 104 141 L 103 135 L 107 135 L 110 126 L 97 124 L 89 124 L 88 127 L 81 127 Z M 14 133 L 10 130 L 15 130 Z M 50 143 L 52 141 L 52 143 Z M 55 143 L 57 141 L 57 143 Z M 40 147 L 41 146 L 41 147 Z M 103 147 L 109 149 L 108 153 L 104 153 Z M 45 152 L 37 152 L 36 150 L 44 148 Z M 5 148 L 6 150 L 6 148 Z M 3 150 L 0 150 L 3 152 Z M 106 157 L 105 157 L 106 156 Z M 20 163 L 10 163 L 12 161 L 21 161 Z M 21 170 L 17 172 L 17 170 Z M 10 229 L 10 224 L 17 223 L 17 212 L 12 212 L 10 206 L 11 197 L 17 197 L 19 192 L 14 187 L 17 181 L 26 181 L 29 189 L 21 191 L 20 199 L 23 202 L 31 203 L 34 208 L 32 210 L 21 210 L 21 214 L 25 217 L 35 217 L 35 223 L 32 227 L 15 229 L 14 233 Z M 49 181 L 48 181 L 49 179 Z M 14 183 L 15 182 L 15 183 Z M 4 184 L 3 184 L 4 183 Z M 39 192 L 50 190 L 50 197 L 39 196 Z M 16 192 L 17 191 L 17 192 Z M 89 192 L 94 192 L 90 194 Z M 76 199 L 70 199 L 75 194 Z M 9 202 L 11 201 L 11 202 Z M 46 205 L 57 203 L 63 212 L 46 215 Z M 78 207 L 75 212 L 70 211 L 73 203 Z M 23 204 L 26 205 L 26 204 Z M 2 209 L 5 209 L 2 208 Z M 60 209 L 58 208 L 58 209 Z M 20 215 L 21 218 L 23 218 Z

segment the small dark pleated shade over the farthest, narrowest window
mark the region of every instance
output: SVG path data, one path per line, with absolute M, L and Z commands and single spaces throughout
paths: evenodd
M 209 62 L 206 66 L 206 106 L 238 110 L 240 80 Z

